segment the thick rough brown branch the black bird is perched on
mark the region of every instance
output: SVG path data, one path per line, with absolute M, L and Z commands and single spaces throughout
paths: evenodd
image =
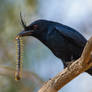
M 86 43 L 79 59 L 45 83 L 38 92 L 57 92 L 80 73 L 92 67 L 92 37 Z

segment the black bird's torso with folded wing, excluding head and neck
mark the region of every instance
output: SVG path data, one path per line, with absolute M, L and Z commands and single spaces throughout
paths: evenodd
M 65 62 L 80 57 L 87 40 L 75 29 L 56 23 L 48 29 L 48 47 Z

